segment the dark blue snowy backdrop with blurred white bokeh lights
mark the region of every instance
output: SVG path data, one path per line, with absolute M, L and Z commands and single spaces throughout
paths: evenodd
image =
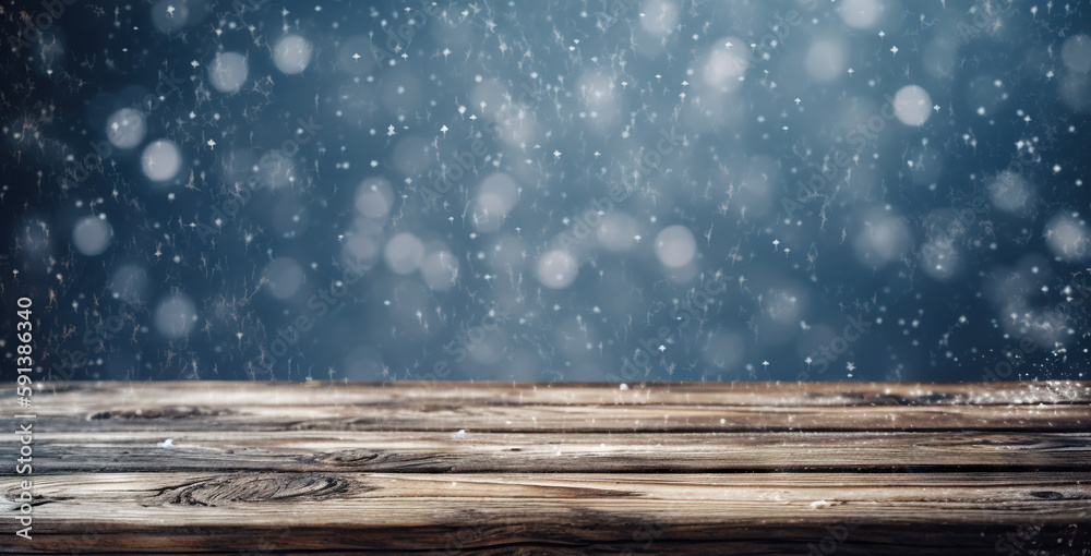
M 52 377 L 1086 377 L 1087 2 L 27 5 Z

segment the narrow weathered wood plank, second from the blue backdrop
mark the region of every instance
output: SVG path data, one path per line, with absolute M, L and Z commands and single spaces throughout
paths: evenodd
M 43 412 L 44 413 L 44 412 Z M 51 416 L 48 413 L 45 416 Z M 511 433 L 697 433 L 771 431 L 1041 431 L 1091 428 L 1084 404 L 952 407 L 686 406 L 113 406 L 55 430 L 158 431 L 431 431 Z M 169 423 L 166 425 L 165 423 Z

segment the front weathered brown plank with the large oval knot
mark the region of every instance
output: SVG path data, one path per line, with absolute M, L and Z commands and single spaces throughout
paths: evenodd
M 136 473 L 38 481 L 35 530 L 44 546 L 57 548 L 91 517 L 95 530 L 110 534 L 100 543 L 121 535 L 127 546 L 194 549 L 217 546 L 201 532 L 227 523 L 291 528 L 273 547 L 297 549 L 304 531 L 323 535 L 326 548 L 428 549 L 458 530 L 487 532 L 464 543 L 475 547 L 624 541 L 619 532 L 640 528 L 663 541 L 728 543 L 838 523 L 859 523 L 858 541 L 872 542 L 896 531 L 908 539 L 915 527 L 1091 525 L 1091 473 Z M 0 492 L 13 488 L 0 484 Z

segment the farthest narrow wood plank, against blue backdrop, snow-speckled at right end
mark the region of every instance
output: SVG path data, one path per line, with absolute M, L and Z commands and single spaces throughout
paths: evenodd
M 1023 383 L 329 383 L 69 382 L 40 384 L 56 414 L 118 404 L 235 408 L 400 406 L 410 400 L 459 406 L 1038 406 L 1091 403 L 1091 382 Z M 0 399 L 13 392 L 0 391 Z

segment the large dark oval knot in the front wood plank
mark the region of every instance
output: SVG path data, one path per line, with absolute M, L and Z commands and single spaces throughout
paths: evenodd
M 156 498 L 161 504 L 223 506 L 231 503 L 317 500 L 348 492 L 349 482 L 316 473 L 259 473 L 228 475 L 168 488 Z

